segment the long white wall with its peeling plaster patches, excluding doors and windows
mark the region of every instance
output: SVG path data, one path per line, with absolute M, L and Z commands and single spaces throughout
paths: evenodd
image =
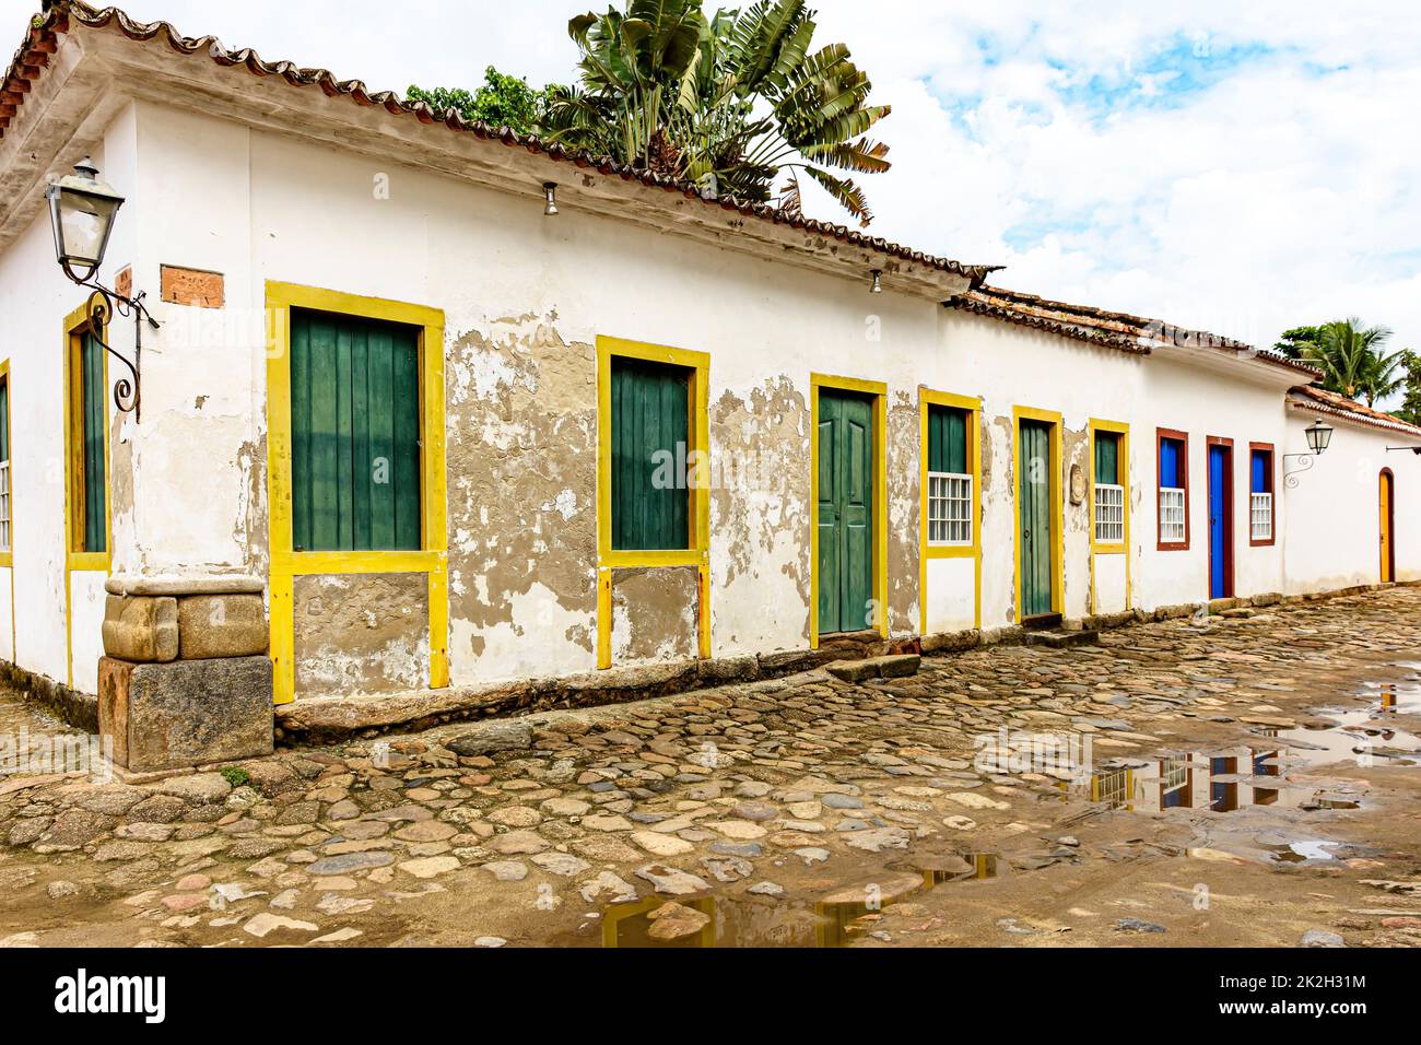
M 131 107 L 109 139 L 105 175 L 134 200 L 111 249 L 115 267 L 132 263 L 135 287 L 151 291 L 159 264 L 220 272 L 227 303 L 222 310 L 153 303 L 163 328 L 145 336 L 142 425 L 114 422 L 115 570 L 266 574 L 269 280 L 442 309 L 455 684 L 595 665 L 600 334 L 710 354 L 715 657 L 809 641 L 813 373 L 888 387 L 885 567 L 894 636 L 918 630 L 924 600 L 929 628 L 966 627 L 973 616 L 965 560 L 929 563 L 929 587 L 918 591 L 921 387 L 983 401 L 983 627 L 1016 614 L 1013 405 L 1064 418 L 1056 481 L 1069 617 L 1091 606 L 1088 500 L 1069 502 L 1071 465 L 1088 475 L 1090 418 L 1131 425 L 1130 597 L 1144 609 L 1206 596 L 1204 436 L 1235 439 L 1239 505 L 1249 439 L 1286 452 L 1286 377 L 1270 384 L 956 313 L 894 293 L 891 267 L 888 293 L 874 297 L 867 273 L 863 280 L 809 273 L 595 218 L 578 209 L 576 182 L 594 173 L 568 181 L 563 213 L 547 219 L 536 185 L 510 196 L 146 102 Z M 0 303 L 9 304 L 0 321 L 16 361 L 16 535 L 40 549 L 17 554 L 16 601 L 26 607 L 16 621 L 18 655 L 63 678 L 63 547 L 57 536 L 45 546 L 36 535 L 63 530 L 61 382 L 48 345 L 58 338 L 57 317 L 80 296 L 50 250 L 36 215 L 31 230 L 0 256 Z M 119 348 L 128 347 L 126 331 L 115 334 Z M 51 391 L 23 395 L 31 385 Z M 1155 550 L 1157 425 L 1191 432 L 1194 545 L 1184 553 Z M 1404 468 L 1395 471 L 1400 519 L 1410 495 Z M 27 473 L 44 475 L 48 486 L 27 493 L 24 482 L 36 482 L 23 479 Z M 1280 535 L 1286 519 L 1280 505 Z M 1280 589 L 1282 542 L 1250 549 L 1246 513 L 1236 526 L 1239 594 Z M 1407 576 L 1421 562 L 1411 564 L 1403 533 L 1398 525 Z M 1299 554 L 1326 554 L 1314 537 L 1296 546 L 1312 549 Z M 1304 576 L 1358 577 L 1364 556 L 1351 557 Z M 1124 567 L 1123 556 L 1097 559 L 1101 611 L 1124 604 Z M 615 574 L 614 663 L 693 657 L 695 572 Z M 88 672 L 102 577 L 77 583 L 75 664 L 82 660 Z M 337 590 L 341 600 L 333 599 Z M 425 599 L 422 577 L 300 580 L 301 691 L 425 685 Z M 377 624 L 355 607 L 375 613 Z

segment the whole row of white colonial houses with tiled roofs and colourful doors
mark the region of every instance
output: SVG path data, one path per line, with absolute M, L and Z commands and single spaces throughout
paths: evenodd
M 55 263 L 85 156 L 135 411 L 138 324 Z M 1421 429 L 992 273 L 50 4 L 0 88 L 0 654 L 78 704 L 105 644 L 270 657 L 293 729 L 384 725 L 1421 579 Z

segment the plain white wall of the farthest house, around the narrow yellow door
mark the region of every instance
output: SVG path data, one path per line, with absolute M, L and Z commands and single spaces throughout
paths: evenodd
M 1331 444 L 1299 471 L 1297 485 L 1283 491 L 1289 526 L 1286 570 L 1289 593 L 1323 591 L 1381 580 L 1380 476 L 1393 473 L 1395 580 L 1421 580 L 1421 456 L 1387 452 L 1387 446 L 1421 444 L 1414 435 L 1385 432 L 1331 415 L 1289 411 L 1289 452 L 1306 452 L 1306 428 L 1322 417 L 1333 425 Z M 1306 462 L 1292 459 L 1289 471 Z

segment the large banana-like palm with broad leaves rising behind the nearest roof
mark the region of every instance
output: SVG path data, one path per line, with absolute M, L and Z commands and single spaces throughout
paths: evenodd
M 701 0 L 628 0 L 580 14 L 568 34 L 581 81 L 556 90 L 549 136 L 666 173 L 708 195 L 801 206 L 800 173 L 868 225 L 867 196 L 828 168 L 878 173 L 888 146 L 867 131 L 888 115 L 844 44 L 810 51 L 804 0 L 760 0 L 706 17 Z

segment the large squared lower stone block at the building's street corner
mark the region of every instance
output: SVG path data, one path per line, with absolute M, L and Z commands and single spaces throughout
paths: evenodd
M 132 772 L 270 755 L 271 718 L 266 657 L 98 663 L 99 734 Z

